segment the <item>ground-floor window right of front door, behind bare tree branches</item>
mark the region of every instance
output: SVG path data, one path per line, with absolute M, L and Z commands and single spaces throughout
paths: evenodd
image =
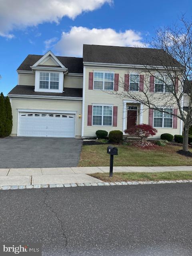
M 163 108 L 161 108 L 161 110 L 163 110 Z M 164 111 L 169 114 L 154 110 L 154 127 L 172 128 L 173 110 L 172 108 L 164 108 Z

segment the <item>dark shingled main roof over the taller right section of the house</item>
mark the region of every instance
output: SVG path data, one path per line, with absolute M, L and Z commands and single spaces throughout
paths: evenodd
M 104 45 L 83 45 L 83 61 L 111 64 L 176 66 L 182 65 L 164 50 Z

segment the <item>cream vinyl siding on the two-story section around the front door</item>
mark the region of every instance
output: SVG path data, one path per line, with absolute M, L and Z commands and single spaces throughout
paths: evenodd
M 106 67 L 87 67 L 86 66 L 86 77 L 85 77 L 85 107 L 84 107 L 84 137 L 89 136 L 95 136 L 96 130 L 106 130 L 107 132 L 110 132 L 111 130 L 121 130 L 123 131 L 123 100 L 130 100 L 128 98 L 120 98 L 116 95 L 108 94 L 107 92 L 104 92 L 102 90 L 88 90 L 88 83 L 89 83 L 89 72 L 94 71 L 106 71 L 106 72 L 114 72 L 119 74 L 119 92 L 123 90 L 122 88 L 122 82 L 124 82 L 124 75 L 127 73 L 137 73 L 137 70 L 127 70 L 127 68 L 106 68 Z M 141 72 L 138 72 L 138 74 L 142 74 Z M 145 73 L 143 73 L 145 74 Z M 121 82 L 122 81 L 122 82 Z M 146 81 L 144 81 L 145 84 Z M 148 81 L 149 83 L 149 81 Z M 142 92 L 135 92 L 136 94 L 141 94 Z M 161 94 L 159 94 L 159 97 L 162 97 Z M 161 103 L 163 105 L 164 99 L 161 99 Z M 88 121 L 88 105 L 94 105 L 94 104 L 112 104 L 113 106 L 118 106 L 118 115 L 117 115 L 117 127 L 113 126 L 87 126 Z M 127 103 L 128 105 L 128 103 Z M 137 105 L 137 104 L 136 104 Z M 139 104 L 140 105 L 140 104 Z M 139 106 L 138 105 L 138 106 Z M 175 106 L 176 107 L 176 106 Z M 144 108 L 143 111 L 143 123 L 148 124 L 148 113 L 149 110 Z M 126 122 L 126 120 L 125 120 Z M 138 123 L 140 123 L 140 118 L 138 117 Z M 178 119 L 177 122 L 177 129 L 173 128 L 158 128 L 158 133 L 154 138 L 160 138 L 160 135 L 162 133 L 170 133 L 170 134 L 180 134 L 180 120 Z

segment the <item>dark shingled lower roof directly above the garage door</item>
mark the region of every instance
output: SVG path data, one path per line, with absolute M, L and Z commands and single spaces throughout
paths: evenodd
M 82 89 L 64 88 L 64 92 L 35 92 L 35 86 L 16 85 L 8 94 L 15 95 L 33 95 L 33 96 L 63 96 L 63 97 L 80 97 L 82 98 Z

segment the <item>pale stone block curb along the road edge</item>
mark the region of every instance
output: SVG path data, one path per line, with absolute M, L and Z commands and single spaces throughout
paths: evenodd
M 160 181 L 122 181 L 122 182 L 98 182 L 98 183 L 68 183 L 68 184 L 42 184 L 27 186 L 0 186 L 0 190 L 17 190 L 31 188 L 69 188 L 82 186 L 120 186 L 120 185 L 150 185 L 150 184 L 170 184 L 170 183 L 190 183 L 192 180 L 160 180 Z

